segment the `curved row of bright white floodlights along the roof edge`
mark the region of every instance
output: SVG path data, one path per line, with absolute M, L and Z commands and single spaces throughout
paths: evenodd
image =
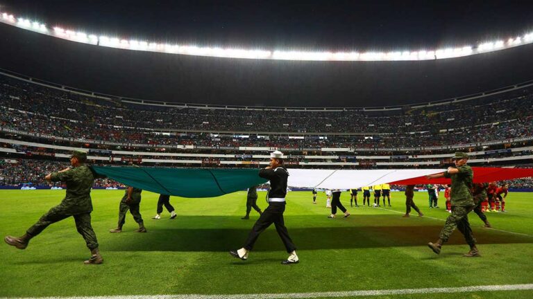
M 452 57 L 463 57 L 478 53 L 498 51 L 533 42 L 533 33 L 521 37 L 510 38 L 507 41 L 484 42 L 477 47 L 462 46 L 443 48 L 436 51 L 393 51 L 393 52 L 310 52 L 310 51 L 264 51 L 246 50 L 239 48 L 181 46 L 176 44 L 161 44 L 155 42 L 138 41 L 135 39 L 119 39 L 105 35 L 87 35 L 86 33 L 54 27 L 52 30 L 36 21 L 15 18 L 13 15 L 2 13 L 1 21 L 19 28 L 33 30 L 38 33 L 68 39 L 74 42 L 122 48 L 137 51 L 152 51 L 174 53 L 182 55 L 264 59 L 264 60 L 318 60 L 318 61 L 396 61 L 396 60 L 436 60 Z

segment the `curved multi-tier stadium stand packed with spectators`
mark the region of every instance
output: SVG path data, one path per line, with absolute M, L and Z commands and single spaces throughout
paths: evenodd
M 131 100 L 0 75 L 0 158 L 17 160 L 65 161 L 83 147 L 101 164 L 258 167 L 280 149 L 291 167 L 443 167 L 464 150 L 477 165 L 525 165 L 532 120 L 533 82 L 409 107 L 334 109 Z

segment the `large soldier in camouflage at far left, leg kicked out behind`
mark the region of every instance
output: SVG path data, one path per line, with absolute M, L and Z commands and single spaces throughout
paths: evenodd
M 31 238 L 39 235 L 50 224 L 74 217 L 76 228 L 85 239 L 87 247 L 91 251 L 91 257 L 86 260 L 85 264 L 101 264 L 103 258 L 98 250 L 96 235 L 91 226 L 91 188 L 94 183 L 95 174 L 90 167 L 85 165 L 87 153 L 74 151 L 71 158 L 71 168 L 52 172 L 45 176 L 47 181 L 63 181 L 67 185 L 67 194 L 58 206 L 51 208 L 46 214 L 26 231 L 22 237 L 6 236 L 4 240 L 7 244 L 24 249 L 28 246 Z

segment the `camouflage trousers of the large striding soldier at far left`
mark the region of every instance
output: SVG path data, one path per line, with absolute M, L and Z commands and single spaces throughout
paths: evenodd
M 54 224 L 62 219 L 67 219 L 68 217 L 74 217 L 74 222 L 76 223 L 76 229 L 78 233 L 85 239 L 85 244 L 87 248 L 94 249 L 98 248 L 98 241 L 96 240 L 96 234 L 91 226 L 91 213 L 83 213 L 72 215 L 69 214 L 61 205 L 51 208 L 46 214 L 42 215 L 37 223 L 33 224 L 26 233 L 35 237 L 39 235 L 44 228 L 48 227 L 50 224 Z

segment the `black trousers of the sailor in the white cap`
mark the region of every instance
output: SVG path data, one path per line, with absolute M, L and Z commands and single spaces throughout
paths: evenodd
M 264 209 L 263 213 L 255 221 L 252 230 L 248 234 L 248 239 L 244 242 L 244 248 L 248 251 L 253 249 L 257 237 L 264 232 L 271 224 L 276 226 L 276 231 L 280 235 L 281 241 L 285 245 L 287 253 L 291 253 L 296 250 L 296 246 L 289 237 L 289 232 L 285 227 L 285 221 L 283 220 L 283 212 L 285 212 L 285 202 L 271 202 L 268 208 Z

